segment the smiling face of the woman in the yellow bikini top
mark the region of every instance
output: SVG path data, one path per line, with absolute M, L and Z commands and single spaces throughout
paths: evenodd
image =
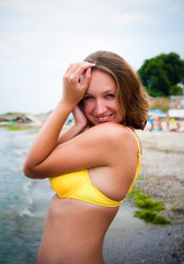
M 116 84 L 108 74 L 97 69 L 92 72 L 92 78 L 83 98 L 83 110 L 93 125 L 122 122 L 116 99 Z

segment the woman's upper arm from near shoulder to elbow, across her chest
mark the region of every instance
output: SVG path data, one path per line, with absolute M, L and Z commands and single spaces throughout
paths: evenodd
M 126 134 L 123 127 L 116 123 L 92 127 L 57 145 L 47 158 L 32 167 L 26 176 L 47 178 L 96 166 L 122 166 L 122 161 L 125 160 L 123 150 L 126 148 Z

